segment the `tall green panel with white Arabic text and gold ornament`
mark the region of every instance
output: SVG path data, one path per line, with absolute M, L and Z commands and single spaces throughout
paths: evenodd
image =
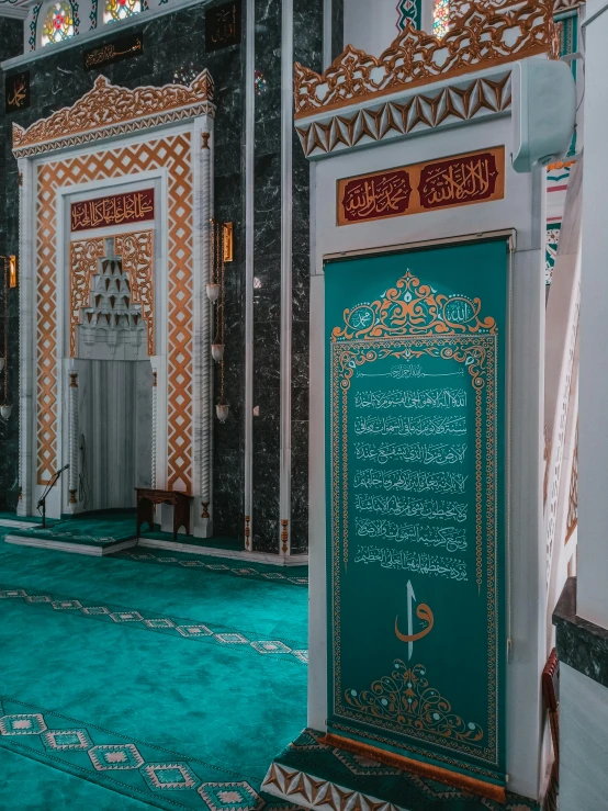
M 507 243 L 325 285 L 328 730 L 502 786 Z

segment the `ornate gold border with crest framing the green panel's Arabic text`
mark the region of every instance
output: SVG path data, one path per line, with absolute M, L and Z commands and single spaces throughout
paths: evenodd
M 407 301 L 408 293 L 414 290 L 413 297 Z M 497 765 L 498 763 L 498 741 L 497 741 L 497 656 L 498 656 L 498 611 L 497 611 L 497 571 L 496 571 L 496 533 L 497 533 L 497 515 L 496 515 L 496 468 L 495 468 L 495 425 L 497 420 L 497 403 L 496 403 L 496 352 L 497 352 L 497 330 L 494 319 L 486 318 L 483 322 L 478 318 L 480 308 L 475 313 L 474 325 L 483 324 L 483 329 L 488 329 L 491 334 L 482 335 L 454 335 L 447 327 L 446 323 L 441 323 L 438 316 L 443 312 L 443 307 L 449 303 L 448 296 L 427 294 L 426 302 L 427 312 L 421 314 L 420 307 L 417 306 L 417 295 L 430 291 L 430 288 L 419 285 L 418 279 L 409 272 L 397 282 L 397 289 L 389 290 L 385 299 L 372 304 L 360 305 L 364 308 L 364 315 L 374 313 L 372 320 L 365 320 L 363 331 L 367 337 L 361 340 L 352 340 L 354 327 L 352 325 L 353 315 L 358 308 L 345 312 L 344 328 L 335 327 L 333 331 L 331 342 L 331 615 L 333 615 L 333 640 L 334 640 L 334 708 L 333 711 L 337 718 L 350 719 L 362 724 L 369 724 L 365 714 L 353 711 L 342 703 L 342 679 L 341 679 L 341 611 L 340 611 L 340 545 L 345 556 L 345 565 L 348 562 L 348 391 L 350 388 L 350 379 L 353 368 L 364 363 L 374 362 L 391 356 L 401 358 L 416 358 L 423 354 L 437 354 L 446 359 L 451 358 L 457 362 L 466 363 L 466 369 L 471 375 L 471 384 L 475 391 L 475 491 L 476 491 L 476 543 L 475 543 L 475 574 L 478 588 L 482 581 L 482 559 L 483 559 L 483 505 L 482 493 L 483 484 L 486 486 L 485 511 L 486 511 L 486 620 L 487 620 L 487 710 L 488 710 L 488 745 L 480 748 L 466 743 L 455 741 L 441 740 L 438 741 L 434 734 L 426 733 L 423 730 L 404 730 L 395 723 L 386 721 L 380 723 L 376 721 L 376 728 L 386 729 L 397 734 L 404 734 L 407 737 L 418 739 L 423 742 L 432 743 L 436 746 L 448 750 L 458 750 L 459 752 L 480 758 L 485 763 Z M 397 308 L 397 302 L 404 297 L 405 292 L 405 313 Z M 442 300 L 447 300 L 443 302 Z M 477 302 L 478 300 L 475 300 Z M 390 304 L 391 307 L 386 305 Z M 390 334 L 397 327 L 391 326 L 395 324 L 395 316 L 401 320 L 401 331 L 407 330 L 409 324 L 409 314 L 418 313 L 421 323 L 419 329 L 434 329 L 440 331 L 441 328 L 447 334 L 435 336 L 403 336 L 391 337 Z M 389 324 L 384 324 L 389 317 Z M 404 320 L 406 322 L 404 324 Z M 359 323 L 358 323 L 359 326 Z M 412 328 L 412 325 L 409 324 Z M 417 328 L 417 325 L 414 325 Z M 477 327 L 478 328 L 478 327 Z M 379 334 L 383 337 L 374 338 L 373 335 Z M 387 335 L 389 334 L 389 335 Z M 358 336 L 361 338 L 361 330 Z M 452 346 L 450 346 L 452 345 Z M 454 348 L 453 345 L 457 345 Z M 475 361 L 468 359 L 474 357 Z M 482 402 L 481 397 L 485 391 L 486 396 L 486 431 L 485 431 L 485 463 L 486 471 L 483 475 L 482 464 Z M 339 393 L 341 392 L 341 396 Z M 341 406 L 340 406 L 341 404 Z M 338 461 L 339 460 L 339 461 Z M 341 482 L 340 482 L 341 478 Z M 341 521 L 340 521 L 341 517 Z M 336 729 L 338 728 L 334 724 Z M 373 737 L 373 735 L 370 735 Z M 375 736 L 381 742 L 394 745 L 394 742 Z

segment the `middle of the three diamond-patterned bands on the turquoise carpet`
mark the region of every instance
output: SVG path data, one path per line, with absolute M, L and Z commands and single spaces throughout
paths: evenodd
M 223 647 L 247 651 L 259 656 L 272 656 L 283 662 L 306 665 L 308 651 L 295 640 L 260 637 L 241 629 L 226 628 L 214 622 L 202 623 L 182 617 L 160 616 L 158 611 L 123 608 L 112 604 L 89 605 L 87 600 L 60 595 L 35 593 L 33 589 L 0 585 L 0 601 L 18 600 L 23 605 L 46 608 L 53 611 L 69 611 L 87 619 L 124 624 L 140 631 L 162 633 L 174 639 L 204 641 Z M 1 723 L 1 722 L 0 722 Z M 2 733 L 0 726 L 0 734 Z

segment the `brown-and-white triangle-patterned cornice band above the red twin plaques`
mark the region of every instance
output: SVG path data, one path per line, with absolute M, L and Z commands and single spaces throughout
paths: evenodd
M 306 157 L 362 146 L 457 122 L 504 114 L 511 105 L 510 70 L 495 78 L 465 79 L 412 92 L 351 114 L 328 113 L 296 127 Z

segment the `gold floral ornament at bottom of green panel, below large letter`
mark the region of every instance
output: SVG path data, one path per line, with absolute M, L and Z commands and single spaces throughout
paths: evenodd
M 478 723 L 465 722 L 452 712 L 452 706 L 438 690 L 429 687 L 424 665 L 409 668 L 401 658 L 394 671 L 372 684 L 371 690 L 345 691 L 350 707 L 374 718 L 382 718 L 407 729 L 441 735 L 455 741 L 481 741 Z

